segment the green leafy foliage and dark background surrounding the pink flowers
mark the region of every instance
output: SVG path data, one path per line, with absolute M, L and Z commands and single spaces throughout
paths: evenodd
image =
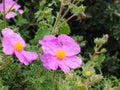
M 26 41 L 25 50 L 37 52 L 39 57 L 24 66 L 16 56 L 6 56 L 0 35 L 0 90 L 119 90 L 120 2 L 108 1 L 19 1 L 24 14 L 10 20 L 0 18 L 0 32 L 12 28 Z M 38 40 L 50 34 L 70 34 L 75 39 L 81 47 L 81 67 L 67 74 L 44 68 Z

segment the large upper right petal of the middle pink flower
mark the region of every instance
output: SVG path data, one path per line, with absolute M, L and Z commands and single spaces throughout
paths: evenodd
M 61 34 L 58 36 L 58 40 L 62 43 L 62 48 L 66 51 L 66 56 L 80 53 L 80 46 L 71 37 Z

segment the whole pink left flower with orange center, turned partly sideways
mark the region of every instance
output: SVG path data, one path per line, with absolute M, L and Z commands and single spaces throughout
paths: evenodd
M 6 55 L 15 54 L 18 60 L 25 65 L 29 65 L 30 62 L 37 59 L 38 55 L 36 52 L 28 52 L 24 50 L 24 48 L 26 47 L 25 41 L 20 35 L 13 32 L 12 29 L 3 29 L 2 35 L 3 52 Z

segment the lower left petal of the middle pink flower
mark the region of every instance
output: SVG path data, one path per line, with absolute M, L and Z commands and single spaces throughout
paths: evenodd
M 58 62 L 54 56 L 44 54 L 41 56 L 41 61 L 43 62 L 44 67 L 48 70 L 57 70 L 58 68 Z

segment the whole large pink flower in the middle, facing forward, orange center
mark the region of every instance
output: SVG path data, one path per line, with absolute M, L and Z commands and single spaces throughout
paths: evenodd
M 58 67 L 68 73 L 70 68 L 76 69 L 82 64 L 79 45 L 69 36 L 61 34 L 58 37 L 48 35 L 39 40 L 42 45 L 43 55 L 41 61 L 48 70 L 57 70 Z

